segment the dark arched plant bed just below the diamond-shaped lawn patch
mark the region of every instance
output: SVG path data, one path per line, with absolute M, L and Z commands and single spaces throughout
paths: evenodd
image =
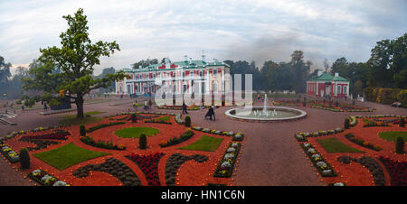
M 88 164 L 86 166 L 80 167 L 79 169 L 72 172 L 72 174 L 78 178 L 85 178 L 89 176 L 90 171 L 109 173 L 110 175 L 118 178 L 118 180 L 121 181 L 124 186 L 141 185 L 141 182 L 138 179 L 136 173 L 133 172 L 124 162 L 121 162 L 113 157 L 107 159 L 103 163 Z

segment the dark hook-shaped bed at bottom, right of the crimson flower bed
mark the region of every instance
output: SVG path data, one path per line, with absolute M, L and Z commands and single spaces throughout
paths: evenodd
M 201 154 L 185 156 L 182 153 L 174 153 L 166 160 L 166 185 L 175 186 L 176 172 L 184 162 L 194 160 L 195 162 L 206 162 L 208 157 Z

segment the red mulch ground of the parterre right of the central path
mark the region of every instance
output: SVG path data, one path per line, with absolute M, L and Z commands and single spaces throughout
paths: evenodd
M 384 118 L 389 119 L 389 118 Z M 383 140 L 379 137 L 380 132 L 387 131 L 407 131 L 406 127 L 400 127 L 399 125 L 391 126 L 377 126 L 377 127 L 363 127 L 364 122 L 361 118 L 358 118 L 358 124 L 355 127 L 351 127 L 339 134 L 331 134 L 317 137 L 308 137 L 308 142 L 312 144 L 317 151 L 324 157 L 327 162 L 334 168 L 337 172 L 336 177 L 322 177 L 322 181 L 327 184 L 335 182 L 344 182 L 348 186 L 374 186 L 374 178 L 372 173 L 367 170 L 362 164 L 357 162 L 351 162 L 350 164 L 344 164 L 337 161 L 339 156 L 350 156 L 353 158 L 360 158 L 362 156 L 372 157 L 380 164 L 383 169 L 384 178 L 386 180 L 386 185 L 390 185 L 390 175 L 384 168 L 383 163 L 378 160 L 379 156 L 385 158 L 391 158 L 396 161 L 407 161 L 406 154 L 396 154 L 395 153 L 395 143 Z M 371 144 L 378 144 L 383 149 L 379 152 L 365 148 L 358 144 L 354 144 L 345 138 L 345 134 L 352 133 L 355 137 L 361 138 Z M 327 151 L 322 148 L 320 144 L 317 143 L 317 139 L 325 139 L 330 137 L 336 137 L 341 143 L 356 148 L 358 150 L 364 151 L 365 153 L 327 153 Z M 404 151 L 407 148 L 404 147 Z

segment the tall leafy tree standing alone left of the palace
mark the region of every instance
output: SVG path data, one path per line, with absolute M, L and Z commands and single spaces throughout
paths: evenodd
M 38 60 L 43 66 L 30 70 L 33 77 L 24 79 L 24 89 L 43 90 L 43 98 L 54 103 L 58 103 L 61 95 L 67 97 L 76 104 L 77 118 L 83 118 L 83 96 L 92 89 L 109 87 L 111 82 L 124 79 L 126 74 L 118 71 L 102 79 L 92 78 L 93 66 L 100 64 L 100 57 L 109 57 L 114 51 L 120 51 L 118 43 L 92 43 L 87 16 L 81 8 L 74 16 L 69 14 L 62 18 L 69 25 L 60 35 L 62 47 L 40 49 L 42 55 Z

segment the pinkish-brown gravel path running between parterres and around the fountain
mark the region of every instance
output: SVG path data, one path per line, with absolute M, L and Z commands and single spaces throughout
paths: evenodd
M 310 97 L 308 97 L 309 99 Z M 144 102 L 138 98 L 138 103 Z M 99 110 L 107 113 L 98 116 L 109 116 L 122 111 L 127 111 L 130 105 L 109 106 L 112 103 L 127 101 L 125 99 L 116 102 L 85 105 L 85 112 Z M 130 102 L 131 100 L 128 100 Z M 262 106 L 262 102 L 256 102 L 255 106 Z M 374 107 L 373 113 L 334 113 L 308 107 L 294 107 L 305 110 L 307 118 L 293 122 L 283 123 L 250 123 L 227 118 L 224 111 L 231 107 L 215 109 L 216 121 L 204 120 L 207 109 L 203 111 L 189 111 L 193 125 L 200 125 L 212 129 L 242 132 L 247 135 L 241 160 L 237 167 L 237 176 L 234 185 L 242 186 L 318 186 L 324 185 L 317 176 L 315 167 L 311 166 L 308 158 L 302 153 L 296 140 L 292 136 L 298 132 L 327 130 L 343 127 L 346 116 L 370 116 L 381 114 L 407 115 L 407 109 L 384 106 L 372 102 L 356 102 L 356 105 Z M 139 107 L 139 110 L 141 108 Z M 153 111 L 181 113 L 174 110 Z M 29 130 L 40 125 L 56 125 L 58 118 L 63 115 L 40 116 L 39 111 L 30 111 L 17 116 L 10 121 L 18 123 L 16 126 L 0 126 L 0 136 L 14 130 Z M 10 172 L 11 167 L 0 160 L 0 185 L 25 185 L 30 184 L 21 179 L 14 179 L 17 173 Z M 12 170 L 12 169 L 11 169 Z M 13 175 L 13 173 L 15 175 Z M 21 176 L 20 176 L 21 177 Z

